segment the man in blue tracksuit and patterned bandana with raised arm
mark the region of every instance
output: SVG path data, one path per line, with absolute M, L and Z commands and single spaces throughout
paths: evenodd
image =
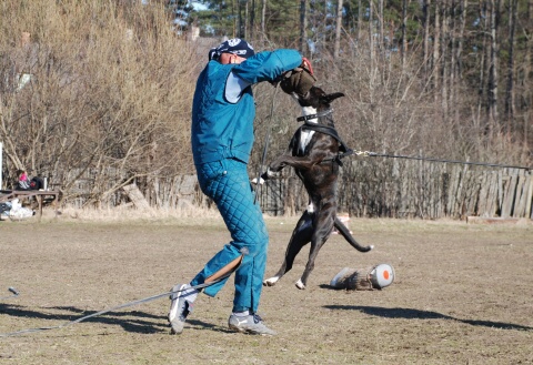
M 202 192 L 212 199 L 232 241 L 223 246 L 190 284 L 172 288 L 169 322 L 171 332 L 183 331 L 198 290 L 192 288 L 241 257 L 235 271 L 231 329 L 274 335 L 257 315 L 266 264 L 269 236 L 259 204 L 254 204 L 247 165 L 253 145 L 255 105 L 251 85 L 274 81 L 302 64 L 295 50 L 255 53 L 241 39 L 230 39 L 209 54 L 197 82 L 192 105 L 191 142 Z M 217 295 L 228 277 L 204 288 Z

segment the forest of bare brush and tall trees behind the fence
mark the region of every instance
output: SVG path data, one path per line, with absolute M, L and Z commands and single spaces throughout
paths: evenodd
M 198 4 L 2 1 L 3 187 L 12 187 L 22 169 L 47 178 L 63 204 L 117 205 L 122 187 L 135 183 L 151 205 L 169 205 L 150 196 L 194 174 L 192 93 L 208 50 L 224 37 L 244 38 L 258 51 L 295 48 L 308 57 L 321 88 L 345 94 L 334 118 L 353 149 L 532 165 L 531 0 Z M 300 115 L 268 83 L 254 94 L 251 174 L 268 130 L 271 159 L 285 149 Z M 351 160 L 343 181 L 393 183 L 408 168 L 392 159 Z M 358 214 L 391 216 L 400 209 L 384 205 Z

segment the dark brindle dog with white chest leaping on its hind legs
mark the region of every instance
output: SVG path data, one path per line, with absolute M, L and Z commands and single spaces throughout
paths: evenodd
M 326 94 L 322 89 L 312 87 L 305 97 L 293 93 L 302 107 L 304 121 L 292 138 L 288 150 L 269 166 L 263 178 L 271 178 L 284 166 L 293 166 L 309 194 L 308 210 L 298 221 L 285 252 L 285 260 L 278 273 L 265 280 L 263 285 L 274 285 L 292 268 L 300 250 L 311 242 L 309 261 L 302 277 L 296 282 L 298 288 L 305 288 L 308 277 L 314 268 L 314 260 L 322 245 L 328 241 L 333 226 L 356 250 L 368 252 L 373 246 L 360 245 L 350 231 L 336 217 L 336 180 L 342 153 L 349 149 L 339 138 L 330 103 L 344 94 Z

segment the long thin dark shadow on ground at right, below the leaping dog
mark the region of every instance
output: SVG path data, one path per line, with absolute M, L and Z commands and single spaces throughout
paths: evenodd
M 403 320 L 452 320 L 461 323 L 470 324 L 472 326 L 484 326 L 497 329 L 516 329 L 516 331 L 533 331 L 533 327 L 522 326 L 519 324 L 492 322 L 492 321 L 476 321 L 476 320 L 461 320 L 450 315 L 438 312 L 420 311 L 412 308 L 383 308 L 379 306 L 360 306 L 360 305 L 325 305 L 328 310 L 334 311 L 360 311 L 369 315 L 375 315 L 384 318 L 403 318 Z

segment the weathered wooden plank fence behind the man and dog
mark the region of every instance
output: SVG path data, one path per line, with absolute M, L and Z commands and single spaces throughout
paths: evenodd
M 194 175 L 142 180 L 137 185 L 150 206 L 211 205 Z M 339 212 L 351 216 L 533 219 L 533 174 L 527 170 L 352 159 L 341 169 L 338 192 Z M 124 191 L 108 200 L 108 205 L 131 201 Z M 82 202 L 83 195 L 78 195 L 76 203 Z M 285 169 L 259 189 L 259 202 L 266 214 L 294 215 L 305 210 L 308 194 L 293 170 Z

